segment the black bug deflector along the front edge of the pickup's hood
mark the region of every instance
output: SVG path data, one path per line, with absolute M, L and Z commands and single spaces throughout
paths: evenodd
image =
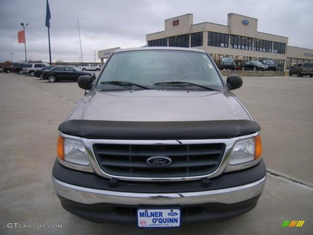
M 87 139 L 219 139 L 248 135 L 260 130 L 250 120 L 189 121 L 189 122 L 117 122 L 70 120 L 59 131 Z

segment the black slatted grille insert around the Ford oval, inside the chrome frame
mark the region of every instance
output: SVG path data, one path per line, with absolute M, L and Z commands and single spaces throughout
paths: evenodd
M 217 170 L 225 144 L 93 144 L 96 160 L 105 173 L 127 177 L 188 177 Z M 146 160 L 162 155 L 172 159 L 167 166 L 148 165 Z

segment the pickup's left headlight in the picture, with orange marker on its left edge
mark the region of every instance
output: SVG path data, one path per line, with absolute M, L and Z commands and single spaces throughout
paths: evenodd
M 88 166 L 89 159 L 83 142 L 59 136 L 58 156 L 61 160 L 77 165 Z

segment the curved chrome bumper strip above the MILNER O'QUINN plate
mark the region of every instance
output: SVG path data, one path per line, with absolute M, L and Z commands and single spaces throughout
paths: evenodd
M 206 203 L 233 204 L 260 195 L 265 185 L 265 177 L 250 184 L 232 188 L 184 192 L 184 193 L 129 193 L 106 191 L 70 185 L 52 176 L 56 193 L 65 199 L 82 204 L 109 203 L 118 205 L 197 205 Z

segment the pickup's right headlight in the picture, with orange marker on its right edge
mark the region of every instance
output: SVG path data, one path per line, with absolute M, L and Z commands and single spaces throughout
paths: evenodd
M 262 155 L 261 136 L 238 141 L 230 154 L 229 165 L 239 165 L 258 159 Z

